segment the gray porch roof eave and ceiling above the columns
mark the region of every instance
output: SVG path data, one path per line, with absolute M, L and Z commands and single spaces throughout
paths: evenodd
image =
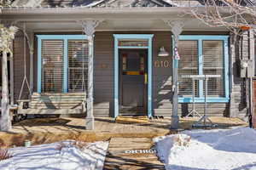
M 205 10 L 198 7 L 198 10 Z M 183 20 L 184 31 L 227 31 L 193 18 L 189 7 L 158 8 L 2 8 L 2 20 L 26 22 L 32 31 L 81 31 L 79 20 L 104 20 L 96 31 L 170 31 L 163 20 Z M 228 13 L 223 8 L 224 13 Z

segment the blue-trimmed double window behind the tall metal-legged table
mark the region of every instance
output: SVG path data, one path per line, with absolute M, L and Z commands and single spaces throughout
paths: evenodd
M 192 80 L 183 75 L 218 75 L 208 79 L 207 102 L 229 102 L 228 36 L 180 36 L 179 102 L 192 102 Z M 204 101 L 203 80 L 195 81 L 195 102 Z

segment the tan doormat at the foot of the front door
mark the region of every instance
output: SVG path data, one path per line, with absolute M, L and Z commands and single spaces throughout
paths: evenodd
M 118 116 L 117 123 L 148 123 L 148 116 Z

